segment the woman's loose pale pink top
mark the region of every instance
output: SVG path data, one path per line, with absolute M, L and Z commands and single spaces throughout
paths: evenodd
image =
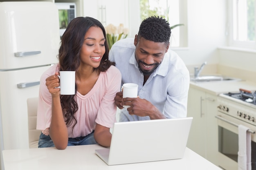
M 50 67 L 40 78 L 38 98 L 37 125 L 47 135 L 52 118 L 52 95 L 45 85 L 45 79 L 59 71 L 58 64 Z M 68 137 L 86 136 L 94 130 L 96 123 L 112 128 L 117 106 L 114 97 L 120 91 L 121 73 L 115 66 L 110 66 L 106 72 L 101 72 L 97 82 L 86 95 L 76 92 L 78 110 L 77 124 L 72 132 L 72 125 L 68 127 Z

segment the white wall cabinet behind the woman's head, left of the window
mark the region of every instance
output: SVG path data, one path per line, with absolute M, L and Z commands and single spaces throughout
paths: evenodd
M 84 15 L 99 20 L 104 26 L 124 24 L 128 37 L 134 38 L 139 31 L 139 0 L 83 0 Z

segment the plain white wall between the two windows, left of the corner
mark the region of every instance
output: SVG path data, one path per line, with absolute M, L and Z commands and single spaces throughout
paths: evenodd
M 186 65 L 217 64 L 225 45 L 225 0 L 188 0 L 188 49 L 175 50 Z

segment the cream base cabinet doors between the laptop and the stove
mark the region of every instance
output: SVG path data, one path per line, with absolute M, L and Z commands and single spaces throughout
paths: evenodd
M 193 117 L 187 147 L 218 165 L 217 95 L 189 88 L 188 117 Z

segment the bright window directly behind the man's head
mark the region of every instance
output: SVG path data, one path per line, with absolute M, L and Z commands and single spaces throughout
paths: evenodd
M 130 0 L 130 7 L 136 7 L 137 0 Z M 171 33 L 171 46 L 172 47 L 187 47 L 188 46 L 188 33 L 187 33 L 187 0 L 140 0 L 139 12 L 133 10 L 132 15 L 139 16 L 139 24 L 147 17 L 156 15 L 162 16 L 170 23 L 170 26 L 176 24 L 184 24 L 172 29 Z M 136 14 L 135 14 L 136 13 Z M 132 18 L 132 17 L 131 17 Z M 137 22 L 132 18 L 132 23 Z M 134 21 L 133 21 L 134 20 Z M 134 24 L 135 25 L 135 24 Z

